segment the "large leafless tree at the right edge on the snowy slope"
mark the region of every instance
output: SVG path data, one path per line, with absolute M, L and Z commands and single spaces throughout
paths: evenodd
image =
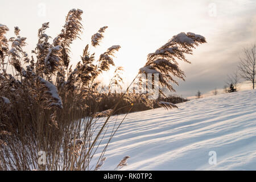
M 250 81 L 253 84 L 253 89 L 255 85 L 255 50 L 255 44 L 251 48 L 244 49 L 243 57 L 240 57 L 240 65 L 238 65 L 241 77 L 246 81 Z

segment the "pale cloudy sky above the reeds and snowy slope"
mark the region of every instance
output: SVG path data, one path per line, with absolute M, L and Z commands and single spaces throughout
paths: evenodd
M 114 61 L 125 68 L 126 81 L 143 67 L 148 53 L 155 52 L 173 35 L 194 32 L 205 36 L 208 43 L 187 56 L 192 64 L 180 63 L 187 78 L 175 89 L 176 94 L 185 97 L 194 96 L 197 90 L 207 93 L 222 89 L 226 75 L 236 70 L 242 49 L 256 41 L 256 1 L 249 0 L 1 0 L 0 23 L 9 27 L 8 36 L 13 36 L 14 26 L 18 26 L 20 34 L 27 37 L 28 51 L 36 46 L 42 23 L 50 22 L 47 34 L 54 38 L 73 8 L 84 11 L 84 32 L 72 45 L 72 64 L 79 61 L 91 36 L 108 26 L 101 46 L 90 51 L 100 55 L 108 47 L 120 45 Z

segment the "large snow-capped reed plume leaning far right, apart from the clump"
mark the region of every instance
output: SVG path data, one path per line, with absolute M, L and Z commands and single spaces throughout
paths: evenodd
M 170 82 L 176 85 L 179 84 L 174 77 L 185 80 L 185 73 L 179 68 L 177 60 L 190 63 L 185 58 L 185 55 L 192 54 L 192 48 L 202 43 L 206 43 L 203 36 L 191 32 L 187 34 L 181 32 L 173 36 L 164 46 L 157 49 L 154 53 L 149 53 L 146 64 L 139 71 L 140 73 L 159 74 L 160 86 L 175 92 Z M 164 94 L 161 89 L 159 91 Z

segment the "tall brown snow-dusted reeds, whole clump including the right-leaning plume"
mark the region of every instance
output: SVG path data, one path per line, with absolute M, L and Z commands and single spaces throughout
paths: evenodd
M 0 24 L 1 170 L 98 169 L 101 166 L 99 163 L 105 160 L 110 140 L 133 109 L 133 102 L 152 105 L 147 94 L 129 94 L 128 87 L 126 92 L 115 94 L 117 99 L 111 109 L 98 113 L 102 110 L 102 99 L 110 96 L 98 92 L 97 77 L 114 66 L 114 53 L 121 47 L 112 46 L 96 59 L 87 44 L 81 61 L 72 69 L 69 65 L 70 46 L 82 32 L 81 15 L 79 9 L 70 10 L 63 29 L 54 39 L 46 34 L 49 23 L 43 23 L 31 57 L 23 50 L 26 38 L 20 36 L 19 28 L 15 27 L 15 36 L 7 39 L 5 34 L 9 28 Z M 91 46 L 100 45 L 106 28 L 100 28 L 92 36 Z M 171 75 L 184 79 L 175 58 L 187 61 L 184 54 L 192 53 L 194 45 L 204 42 L 203 36 L 192 33 L 176 35 L 155 53 L 148 55 L 147 63 L 138 75 L 158 73 L 160 85 L 174 90 L 170 81 L 177 82 Z M 117 68 L 109 89 L 113 85 L 119 86 L 122 81 L 118 71 L 122 69 Z M 121 105 L 123 100 L 125 105 Z M 169 102 L 159 102 L 159 105 L 175 107 Z M 125 117 L 110 129 L 110 117 L 123 107 L 127 108 Z M 105 116 L 104 122 L 99 122 L 100 115 Z M 100 151 L 97 163 L 92 164 L 107 131 L 110 135 L 104 143 L 105 147 Z M 42 164 L 44 152 L 46 163 Z M 123 161 L 125 164 L 126 160 Z

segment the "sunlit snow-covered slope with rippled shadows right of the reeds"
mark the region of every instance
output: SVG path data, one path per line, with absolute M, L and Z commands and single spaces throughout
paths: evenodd
M 109 144 L 101 170 L 113 170 L 126 155 L 130 159 L 122 170 L 256 169 L 256 90 L 177 106 L 127 115 Z M 216 152 L 216 165 L 208 162 L 210 151 Z

